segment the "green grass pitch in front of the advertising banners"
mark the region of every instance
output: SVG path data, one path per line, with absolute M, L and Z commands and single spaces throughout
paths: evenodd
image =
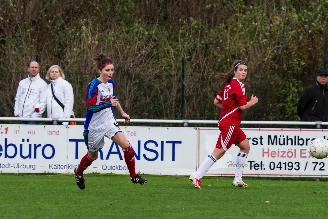
M 204 177 L 195 189 L 186 176 L 0 174 L 0 218 L 325 218 L 327 180 Z M 270 203 L 266 203 L 269 201 Z

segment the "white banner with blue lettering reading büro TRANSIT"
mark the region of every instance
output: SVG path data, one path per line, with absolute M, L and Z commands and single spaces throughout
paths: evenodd
M 122 126 L 135 151 L 135 170 L 189 175 L 196 169 L 194 128 Z M 87 153 L 83 126 L 1 125 L 0 172 L 73 173 Z M 105 137 L 98 159 L 85 173 L 127 174 L 122 149 Z

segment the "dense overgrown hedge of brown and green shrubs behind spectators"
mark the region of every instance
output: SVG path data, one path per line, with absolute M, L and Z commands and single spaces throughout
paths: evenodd
M 36 59 L 41 77 L 60 65 L 85 116 L 85 89 L 99 52 L 115 62 L 116 92 L 131 118 L 216 120 L 216 72 L 248 62 L 244 120 L 299 120 L 298 97 L 328 54 L 328 1 L 90 0 L 0 5 L 0 116 L 13 116 L 19 80 Z M 116 112 L 117 114 L 117 112 Z M 118 114 L 117 114 L 118 115 Z M 118 115 L 120 118 L 120 115 Z

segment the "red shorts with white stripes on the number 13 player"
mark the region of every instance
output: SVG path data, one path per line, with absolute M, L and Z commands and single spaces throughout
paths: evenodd
M 246 139 L 245 133 L 239 126 L 221 126 L 220 135 L 217 139 L 216 148 L 223 148 L 227 151 L 232 144 L 239 144 Z

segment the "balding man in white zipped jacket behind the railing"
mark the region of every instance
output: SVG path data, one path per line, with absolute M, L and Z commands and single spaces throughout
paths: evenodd
M 27 78 L 19 82 L 15 97 L 15 117 L 40 118 L 46 110 L 47 83 L 39 75 L 39 64 L 31 62 Z M 38 121 L 18 121 L 18 124 L 39 124 Z

